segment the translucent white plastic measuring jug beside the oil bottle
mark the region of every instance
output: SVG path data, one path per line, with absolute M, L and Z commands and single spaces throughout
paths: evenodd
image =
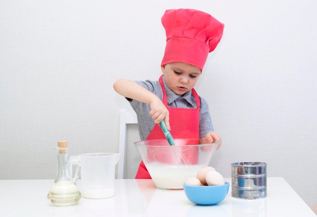
M 82 195 L 102 199 L 114 195 L 114 172 L 118 153 L 89 153 L 78 155 L 81 164 Z

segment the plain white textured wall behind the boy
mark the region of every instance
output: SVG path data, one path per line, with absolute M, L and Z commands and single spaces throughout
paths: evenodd
M 265 161 L 268 177 L 316 203 L 314 0 L 2 0 L 0 179 L 54 179 L 58 140 L 71 154 L 118 152 L 119 110 L 130 106 L 112 84 L 161 75 L 171 8 L 225 24 L 195 87 L 223 139 L 211 165 L 230 177 L 231 162 Z

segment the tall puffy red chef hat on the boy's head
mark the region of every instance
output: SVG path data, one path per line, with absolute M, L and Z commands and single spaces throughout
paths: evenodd
M 166 10 L 162 24 L 166 31 L 166 48 L 161 65 L 183 62 L 202 70 L 224 28 L 210 14 L 194 9 Z

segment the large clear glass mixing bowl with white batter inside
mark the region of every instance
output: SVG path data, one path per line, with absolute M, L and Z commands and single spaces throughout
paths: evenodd
M 166 139 L 135 142 L 150 176 L 160 189 L 183 189 L 183 183 L 208 166 L 219 142 L 199 144 L 199 139 Z

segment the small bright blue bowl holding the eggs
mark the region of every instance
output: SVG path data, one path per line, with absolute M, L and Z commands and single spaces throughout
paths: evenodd
M 215 186 L 192 186 L 183 184 L 186 197 L 199 205 L 213 205 L 226 198 L 229 191 L 229 183 Z

